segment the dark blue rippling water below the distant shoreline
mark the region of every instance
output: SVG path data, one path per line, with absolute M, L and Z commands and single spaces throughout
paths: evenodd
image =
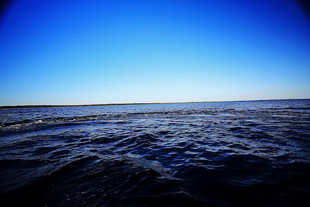
M 310 100 L 0 110 L 1 206 L 309 206 Z

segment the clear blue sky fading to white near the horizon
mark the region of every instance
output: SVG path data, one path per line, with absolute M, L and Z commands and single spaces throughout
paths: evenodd
M 15 0 L 0 105 L 310 98 L 310 18 L 293 0 Z

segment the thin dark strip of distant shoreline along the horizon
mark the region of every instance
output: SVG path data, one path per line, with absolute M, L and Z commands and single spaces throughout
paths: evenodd
M 133 103 L 133 104 L 79 104 L 79 105 L 3 105 L 0 109 L 20 108 L 60 108 L 60 107 L 85 107 L 85 106 L 112 106 L 112 105 L 146 105 L 146 104 L 200 104 L 216 102 L 255 102 L 255 101 L 284 101 L 284 100 L 308 100 L 308 99 L 269 99 L 269 100 L 244 100 L 244 101 L 210 101 L 210 102 L 174 102 L 174 103 Z

